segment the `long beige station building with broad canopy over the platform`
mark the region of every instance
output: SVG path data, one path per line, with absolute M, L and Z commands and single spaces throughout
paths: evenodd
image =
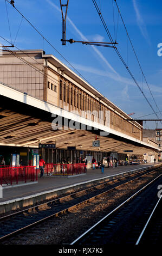
M 72 190 L 80 182 L 102 179 L 100 168 L 92 170 L 93 157 L 95 167 L 105 159 L 104 176 L 113 178 L 146 168 L 142 161 L 146 153 L 158 160 L 157 143 L 142 141 L 142 123 L 131 120 L 54 56 L 42 50 L 14 54 L 4 52 L 0 57 L 0 149 L 5 161 L 2 169 L 9 172 L 1 174 L 6 194 L 0 199 L 3 213 L 9 205 L 10 210 L 20 207 L 5 206 L 21 194 L 33 198 L 33 193 L 41 191 L 43 196 L 36 199 L 41 201 L 51 197 L 51 188 L 62 191 L 67 185 Z M 40 158 L 45 162 L 44 180 L 40 180 Z M 85 164 L 76 163 L 78 158 L 87 159 L 86 169 Z M 113 168 L 114 159 L 119 161 L 118 168 Z M 152 166 L 153 161 L 147 164 Z

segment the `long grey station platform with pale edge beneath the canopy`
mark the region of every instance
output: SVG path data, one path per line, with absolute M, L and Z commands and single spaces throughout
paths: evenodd
M 138 172 L 140 169 L 160 165 L 162 166 L 162 163 L 109 167 L 105 168 L 104 174 L 101 173 L 100 168 L 88 169 L 86 175 L 73 176 L 72 178 L 44 176 L 43 179 L 38 178 L 37 184 L 5 188 L 3 198 L 0 198 L 0 214 L 41 203 L 63 193 L 74 192 L 81 188 L 100 184 L 103 181 L 120 178 L 129 173 Z

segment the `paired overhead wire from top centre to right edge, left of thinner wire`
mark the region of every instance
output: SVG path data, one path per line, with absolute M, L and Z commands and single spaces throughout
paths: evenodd
M 114 45 L 114 44 L 113 44 L 113 39 L 112 39 L 111 33 L 109 32 L 108 27 L 107 27 L 107 25 L 106 25 L 106 22 L 105 22 L 105 20 L 103 19 L 102 14 L 100 13 L 98 4 L 96 3 L 95 0 L 92 0 L 92 2 L 94 3 L 95 9 L 96 9 L 96 11 L 97 11 L 98 14 L 99 14 L 100 20 L 101 20 L 101 22 L 102 22 L 102 24 L 103 24 L 103 27 L 104 27 L 105 30 L 106 30 L 106 33 L 107 33 L 107 35 L 108 35 L 108 37 L 109 37 L 109 40 L 112 42 L 112 45 Z M 115 1 L 115 2 L 116 2 L 116 1 Z M 127 34 L 128 34 L 128 33 L 127 33 Z M 129 37 L 128 37 L 128 38 L 129 38 Z M 144 92 L 142 92 L 142 90 L 141 90 L 141 88 L 140 88 L 140 86 L 139 86 L 137 80 L 136 80 L 135 77 L 133 76 L 131 70 L 129 70 L 127 64 L 125 63 L 125 60 L 122 58 L 120 52 L 118 51 L 118 48 L 114 47 L 114 50 L 115 50 L 115 52 L 118 54 L 119 58 L 121 59 L 121 62 L 125 65 L 125 68 L 127 69 L 129 75 L 131 75 L 133 81 L 135 82 L 135 84 L 136 84 L 137 87 L 139 88 L 140 92 L 144 95 L 145 100 L 147 101 L 148 105 L 152 108 L 154 114 L 155 114 L 155 115 L 157 116 L 157 118 L 159 119 L 158 115 L 155 113 L 155 111 L 154 111 L 152 105 L 151 105 L 150 102 L 148 101 L 148 99 L 147 99 L 147 97 L 145 96 Z M 161 121 L 160 121 L 160 123 L 161 123 Z M 162 124 L 162 123 L 161 123 L 161 124 Z

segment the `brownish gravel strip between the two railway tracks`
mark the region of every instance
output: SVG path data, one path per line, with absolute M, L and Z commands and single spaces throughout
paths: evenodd
M 128 184 L 121 185 L 104 196 L 83 203 L 69 210 L 68 213 L 38 224 L 3 243 L 67 245 L 160 173 L 160 170 L 157 170 Z

